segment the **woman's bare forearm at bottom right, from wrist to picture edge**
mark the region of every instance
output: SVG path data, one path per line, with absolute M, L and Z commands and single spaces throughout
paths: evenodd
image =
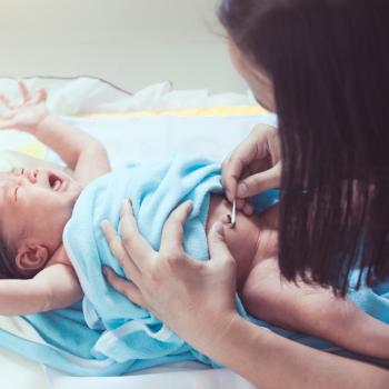
M 235 315 L 218 341 L 201 352 L 267 388 L 388 388 L 389 371 L 319 351 L 257 327 Z

